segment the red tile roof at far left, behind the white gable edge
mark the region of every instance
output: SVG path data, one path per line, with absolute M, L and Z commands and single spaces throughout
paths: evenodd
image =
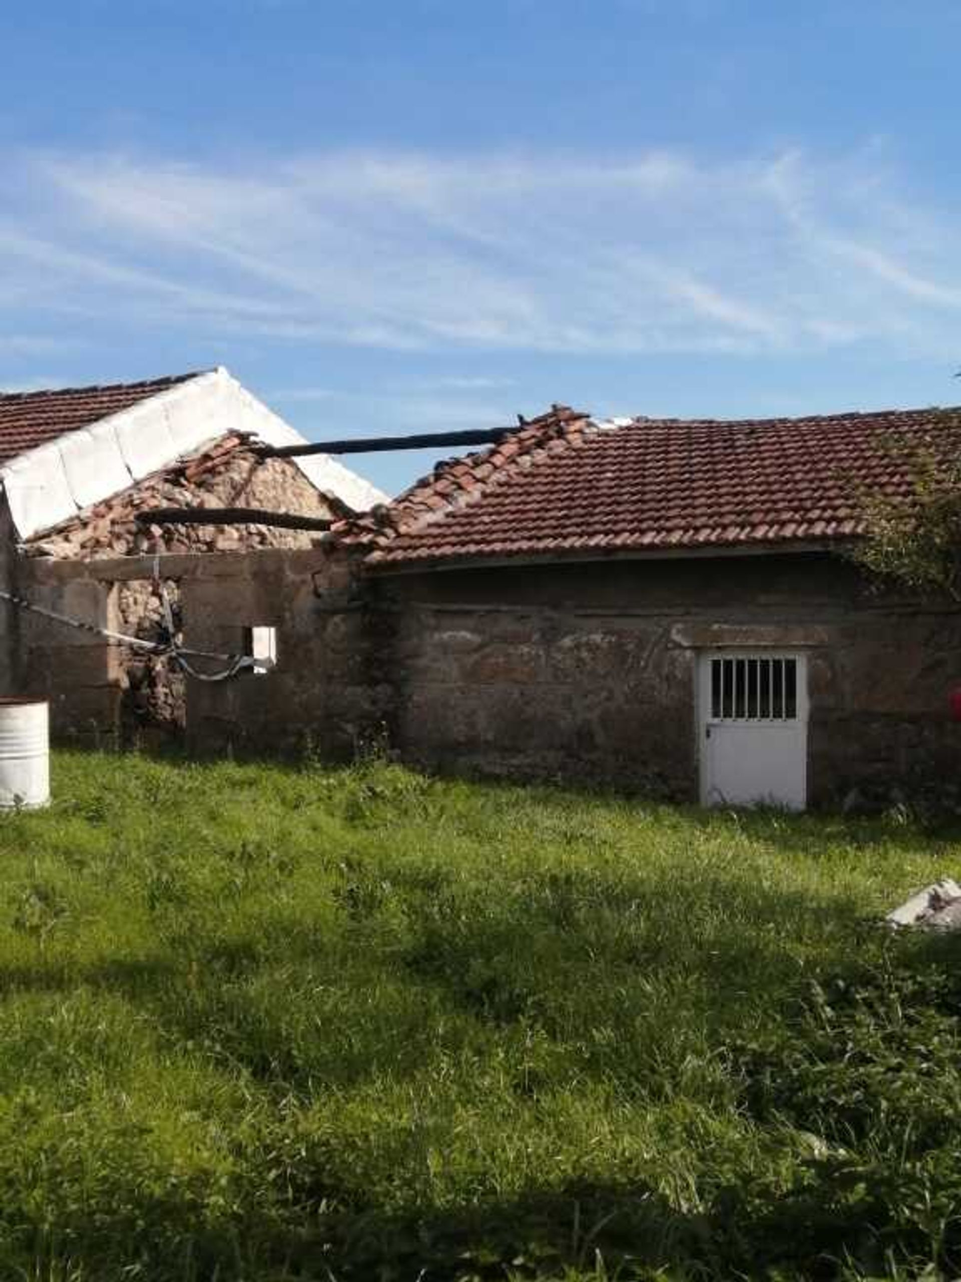
M 140 383 L 108 383 L 103 387 L 59 387 L 42 392 L 0 392 L 0 464 L 18 454 L 46 445 L 65 432 L 129 409 L 199 372 L 154 378 Z

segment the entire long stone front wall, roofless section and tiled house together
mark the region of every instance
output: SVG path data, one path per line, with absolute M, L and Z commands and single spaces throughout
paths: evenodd
M 149 627 L 152 568 L 152 556 L 42 559 L 21 573 L 51 608 Z M 961 613 L 879 595 L 826 555 L 360 574 L 322 545 L 165 555 L 160 573 L 190 647 L 234 654 L 246 628 L 275 628 L 267 676 L 178 676 L 197 753 L 349 758 L 384 735 L 431 769 L 696 800 L 697 658 L 769 646 L 809 655 L 812 804 L 855 790 L 947 796 L 961 778 L 961 726 L 948 715 Z M 142 688 L 123 651 L 29 618 L 17 626 L 18 690 L 51 699 L 58 736 L 123 741 Z

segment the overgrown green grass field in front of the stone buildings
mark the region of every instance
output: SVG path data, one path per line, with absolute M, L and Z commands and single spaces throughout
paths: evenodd
M 58 755 L 0 819 L 0 1277 L 944 1276 L 947 835 Z

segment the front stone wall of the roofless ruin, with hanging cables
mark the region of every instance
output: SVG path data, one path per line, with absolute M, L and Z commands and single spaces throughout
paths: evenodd
M 161 610 L 154 568 L 151 555 L 23 562 L 22 590 L 59 613 L 152 640 Z M 275 669 L 208 683 L 170 659 L 19 615 L 15 688 L 50 700 L 58 741 L 156 746 L 174 735 L 199 754 L 342 759 L 383 723 L 390 690 L 372 654 L 378 629 L 345 554 L 325 546 L 167 554 L 159 570 L 185 646 L 237 655 L 249 628 L 274 627 Z M 226 667 L 191 663 L 209 676 Z

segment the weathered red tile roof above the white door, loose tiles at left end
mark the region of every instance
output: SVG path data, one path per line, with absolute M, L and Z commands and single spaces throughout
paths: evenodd
M 370 527 L 374 564 L 843 540 L 860 487 L 907 495 L 905 450 L 961 456 L 961 409 L 619 419 L 555 406 L 439 464 Z

